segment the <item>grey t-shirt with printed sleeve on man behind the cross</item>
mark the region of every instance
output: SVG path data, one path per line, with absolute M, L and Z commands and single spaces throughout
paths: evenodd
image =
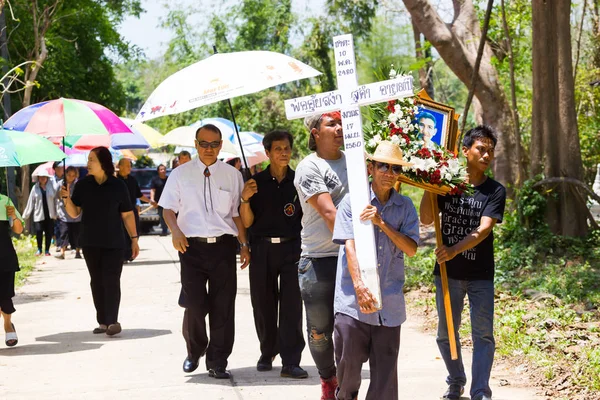
M 338 206 L 348 193 L 346 156 L 337 160 L 325 160 L 317 153 L 309 154 L 298 164 L 294 185 L 302 205 L 302 257 L 335 257 L 339 245 L 333 243 L 331 231 L 325 220 L 308 199 L 319 193 L 329 193 L 333 204 Z

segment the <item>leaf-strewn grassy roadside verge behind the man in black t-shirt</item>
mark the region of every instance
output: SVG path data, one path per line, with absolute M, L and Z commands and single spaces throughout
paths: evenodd
M 578 241 L 579 245 L 571 244 L 562 253 L 555 250 L 549 254 L 551 252 L 540 249 L 540 245 L 533 244 L 529 250 L 520 251 L 523 248 L 518 248 L 518 244 L 501 244 L 499 239 L 496 238 L 494 325 L 497 355 L 518 363 L 526 362 L 549 390 L 555 390 L 557 399 L 598 393 L 600 275 L 597 260 L 600 258 L 596 258 L 597 248 L 584 240 Z M 435 308 L 433 250 L 423 246 L 414 257 L 405 258 L 406 290 L 426 288 L 428 292 L 411 302 L 421 311 Z M 587 257 L 581 257 L 582 253 Z M 471 345 L 468 304 L 465 304 L 460 335 L 463 344 Z

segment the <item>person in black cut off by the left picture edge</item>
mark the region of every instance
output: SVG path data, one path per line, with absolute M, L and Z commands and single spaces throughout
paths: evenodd
M 0 207 L 6 210 L 6 218 L 4 215 L 0 218 L 0 312 L 4 319 L 4 332 L 6 333 L 4 342 L 7 346 L 12 347 L 16 346 L 19 341 L 15 326 L 11 321 L 12 313 L 15 312 L 12 298 L 15 296 L 15 273 L 19 270 L 19 260 L 12 245 L 10 230 L 12 229 L 17 234 L 23 232 L 23 222 L 10 198 L 2 194 L 0 194 Z

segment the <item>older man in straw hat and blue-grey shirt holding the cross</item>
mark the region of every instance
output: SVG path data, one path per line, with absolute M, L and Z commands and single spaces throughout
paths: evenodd
M 411 200 L 394 189 L 402 166 L 402 150 L 381 142 L 367 156 L 373 178 L 369 204 L 360 214 L 371 221 L 377 245 L 377 273 L 382 307 L 361 279 L 352 229 L 350 196 L 338 207 L 333 241 L 341 244 L 335 287 L 334 342 L 338 400 L 358 398 L 362 364 L 369 360 L 371 383 L 367 400 L 398 399 L 398 352 L 404 309 L 404 254 L 412 257 L 419 242 L 419 219 Z

